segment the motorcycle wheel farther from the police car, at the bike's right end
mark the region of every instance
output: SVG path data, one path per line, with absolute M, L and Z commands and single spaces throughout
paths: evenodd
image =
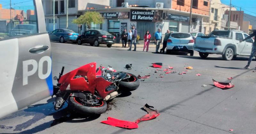
M 140 80 L 138 79 L 138 77 L 131 73 L 127 73 L 127 75 L 129 75 L 130 78 L 120 81 L 119 89 L 128 91 L 137 89 L 140 86 Z

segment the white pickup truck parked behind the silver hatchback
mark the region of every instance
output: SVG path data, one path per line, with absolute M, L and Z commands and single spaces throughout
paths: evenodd
M 193 48 L 202 58 L 209 54 L 220 54 L 224 60 L 229 61 L 237 55 L 250 56 L 253 40 L 239 42 L 248 36 L 238 30 L 214 30 L 208 36 L 196 37 Z

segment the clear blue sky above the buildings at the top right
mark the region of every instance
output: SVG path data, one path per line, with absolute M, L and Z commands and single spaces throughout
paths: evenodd
M 226 5 L 230 4 L 230 0 L 220 1 Z M 231 0 L 231 4 L 235 5 L 237 10 L 240 10 L 240 7 L 242 7 L 244 13 L 256 16 L 256 0 Z

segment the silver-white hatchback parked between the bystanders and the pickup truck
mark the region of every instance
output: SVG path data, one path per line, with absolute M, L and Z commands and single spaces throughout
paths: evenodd
M 194 55 L 193 50 L 194 39 L 190 33 L 172 33 L 167 40 L 166 53 L 170 54 L 173 51 L 182 51 Z

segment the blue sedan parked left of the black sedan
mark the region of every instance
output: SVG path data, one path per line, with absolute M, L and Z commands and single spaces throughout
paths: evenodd
M 76 42 L 78 35 L 78 33 L 70 29 L 55 29 L 54 31 L 49 32 L 50 40 L 60 41 L 60 43 L 64 43 L 65 41 Z

